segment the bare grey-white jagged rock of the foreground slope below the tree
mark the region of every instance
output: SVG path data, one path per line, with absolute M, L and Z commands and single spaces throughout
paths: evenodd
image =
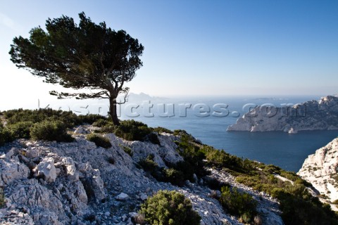
M 81 127 L 80 133 L 87 133 Z M 211 198 L 203 179 L 183 188 L 158 182 L 137 167 L 140 159 L 154 154 L 154 161 L 182 160 L 171 134 L 158 136 L 161 146 L 125 141 L 106 134 L 113 146 L 96 147 L 75 134 L 73 143 L 19 139 L 0 148 L 0 186 L 6 206 L 0 209 L 1 224 L 133 224 L 139 205 L 161 189 L 177 190 L 192 201 L 201 224 L 240 224 Z M 132 149 L 132 157 L 123 146 Z M 237 184 L 226 172 L 210 169 L 208 176 L 226 181 L 258 200 L 263 224 L 283 224 L 278 203 L 264 193 Z

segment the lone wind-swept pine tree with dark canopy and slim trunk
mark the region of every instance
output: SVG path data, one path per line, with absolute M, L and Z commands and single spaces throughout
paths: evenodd
M 46 30 L 35 27 L 30 38 L 15 37 L 11 60 L 32 75 L 45 77 L 44 82 L 65 88 L 92 89 L 92 93 L 58 93 L 58 98 L 108 98 L 110 115 L 118 124 L 116 98 L 127 95 L 130 82 L 142 67 L 144 47 L 124 30 L 111 30 L 105 22 L 98 25 L 82 12 L 77 25 L 73 18 L 49 18 Z

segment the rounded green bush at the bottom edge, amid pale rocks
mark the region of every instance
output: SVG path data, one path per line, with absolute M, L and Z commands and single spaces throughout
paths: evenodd
M 145 220 L 155 225 L 198 225 L 201 220 L 190 200 L 176 191 L 158 191 L 141 205 L 139 214 L 144 214 Z

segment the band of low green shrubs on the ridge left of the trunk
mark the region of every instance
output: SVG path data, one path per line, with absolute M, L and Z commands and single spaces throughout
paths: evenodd
M 0 146 L 15 139 L 73 141 L 67 129 L 105 119 L 101 115 L 76 115 L 51 108 L 8 110 L 1 112 L 0 115 L 6 121 L 6 127 L 0 124 Z

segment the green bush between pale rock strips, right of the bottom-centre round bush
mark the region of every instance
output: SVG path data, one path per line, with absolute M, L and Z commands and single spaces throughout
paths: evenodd
M 220 203 L 225 209 L 236 216 L 242 217 L 245 223 L 249 223 L 256 216 L 256 200 L 249 193 L 240 193 L 237 188 L 225 186 L 221 188 Z

